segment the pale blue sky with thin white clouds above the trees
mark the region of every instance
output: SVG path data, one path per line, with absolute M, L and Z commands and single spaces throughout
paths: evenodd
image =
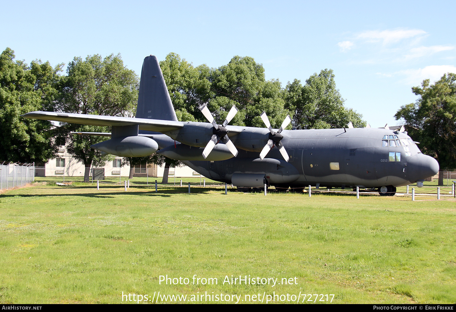
M 318 2 L 318 3 L 317 3 Z M 52 65 L 175 52 L 197 66 L 254 57 L 285 87 L 331 68 L 345 105 L 396 125 L 411 87 L 456 73 L 455 1 L 4 1 L 0 48 Z

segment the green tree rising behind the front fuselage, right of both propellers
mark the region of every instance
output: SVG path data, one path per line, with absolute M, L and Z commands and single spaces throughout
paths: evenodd
M 292 125 L 298 129 L 343 128 L 351 121 L 354 127 L 365 127 L 362 115 L 344 106 L 344 99 L 336 88 L 332 69 L 314 73 L 301 85 L 295 79 L 288 83 L 285 107 L 294 112 Z

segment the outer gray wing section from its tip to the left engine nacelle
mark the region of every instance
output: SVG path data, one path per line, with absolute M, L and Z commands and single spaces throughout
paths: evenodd
M 87 114 L 67 114 L 67 113 L 54 113 L 54 112 L 30 112 L 21 115 L 26 118 L 41 119 L 41 120 L 54 120 L 60 122 L 69 122 L 82 125 L 94 126 L 127 126 L 139 125 L 140 130 L 166 132 L 177 130 L 184 126 L 181 121 L 172 120 L 155 120 L 145 118 L 130 118 L 130 117 L 117 117 L 117 116 L 101 116 L 101 115 L 87 115 Z

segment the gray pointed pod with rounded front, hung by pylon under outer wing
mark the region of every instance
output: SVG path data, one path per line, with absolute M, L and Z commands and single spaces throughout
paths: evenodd
M 158 150 L 157 142 L 145 136 L 117 137 L 93 144 L 90 147 L 94 150 L 121 157 L 144 157 Z

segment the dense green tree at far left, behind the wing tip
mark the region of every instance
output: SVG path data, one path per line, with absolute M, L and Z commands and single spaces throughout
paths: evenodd
M 55 156 L 52 124 L 45 120 L 21 118 L 35 110 L 54 109 L 55 85 L 63 64 L 55 68 L 36 60 L 28 66 L 14 61 L 14 51 L 0 55 L 0 159 L 14 162 L 47 162 Z

